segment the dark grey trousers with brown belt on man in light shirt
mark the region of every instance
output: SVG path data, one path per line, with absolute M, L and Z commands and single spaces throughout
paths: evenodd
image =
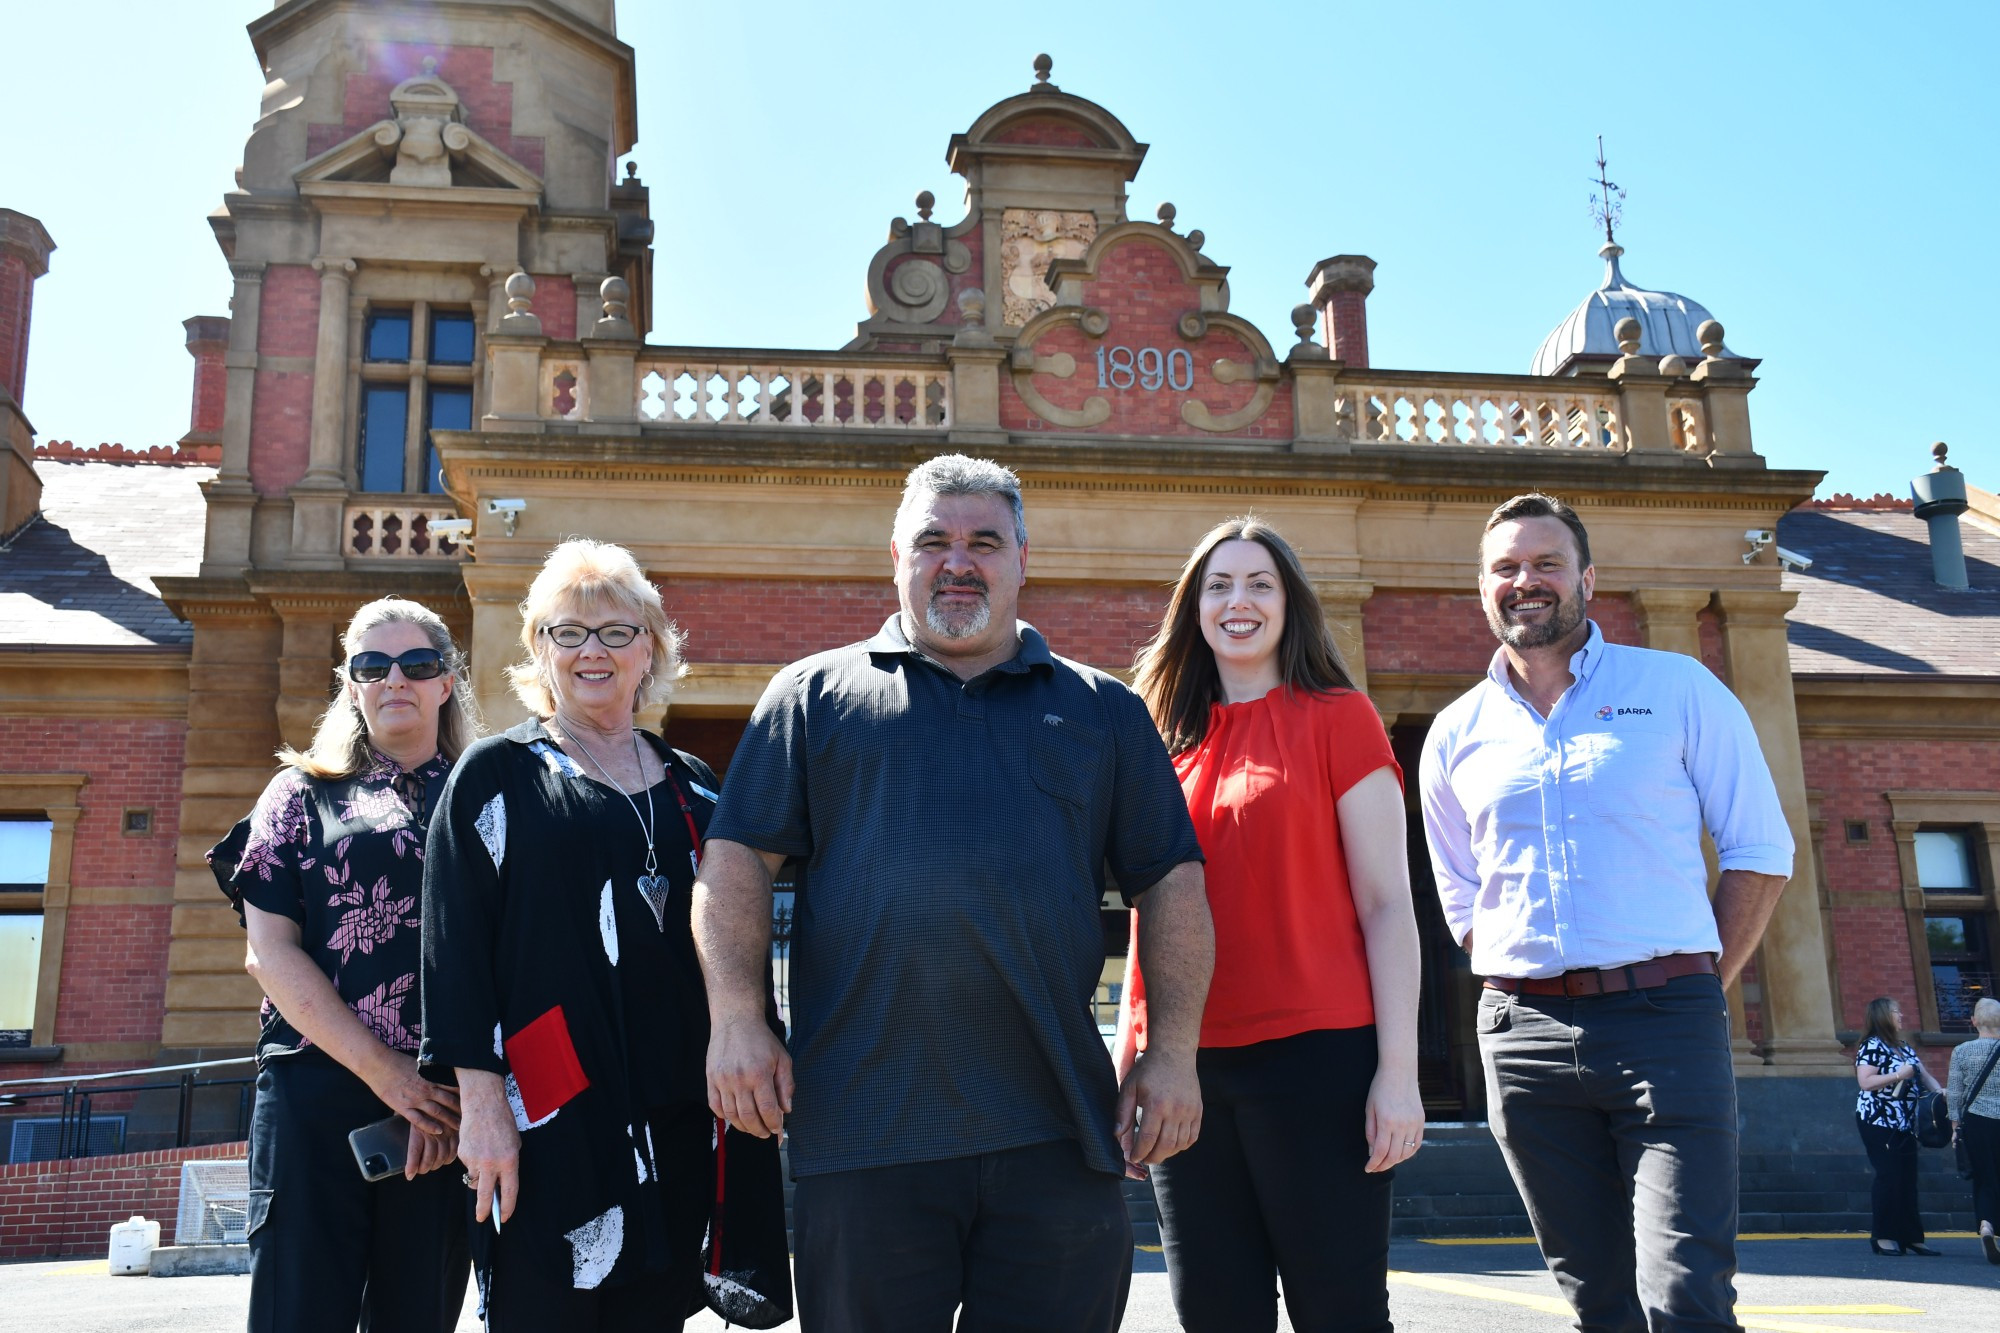
M 1582 1333 L 1736 1333 L 1736 1077 L 1716 977 L 1480 991 L 1494 1137 Z

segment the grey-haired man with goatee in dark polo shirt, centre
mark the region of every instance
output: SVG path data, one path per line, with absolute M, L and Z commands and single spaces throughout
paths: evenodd
M 708 825 L 710 1105 L 754 1135 L 790 1127 L 808 1331 L 946 1333 L 962 1305 L 960 1329 L 1110 1333 L 1126 1163 L 1200 1131 L 1202 853 L 1138 697 L 1014 618 L 1010 470 L 912 470 L 890 554 L 902 610 L 778 673 Z M 790 1053 L 762 997 L 786 859 L 804 863 Z M 1122 1089 L 1090 1009 L 1106 867 L 1138 907 L 1152 1003 Z

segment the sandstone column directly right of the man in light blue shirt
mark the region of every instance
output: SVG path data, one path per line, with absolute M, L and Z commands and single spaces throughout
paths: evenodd
M 1826 975 L 1820 889 L 1812 865 L 1806 761 L 1798 745 L 1798 705 L 1792 699 L 1792 662 L 1784 636 L 1784 612 L 1796 600 L 1796 592 L 1778 588 L 1728 588 L 1716 594 L 1730 683 L 1756 727 L 1798 849 L 1792 857 L 1792 883 L 1780 895 L 1758 951 L 1764 1057 L 1772 1065 L 1850 1071 L 1852 1063 L 1834 1037 L 1834 991 Z

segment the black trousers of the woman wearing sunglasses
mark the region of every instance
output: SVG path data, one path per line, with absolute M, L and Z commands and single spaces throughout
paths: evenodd
M 322 1051 L 272 1059 L 250 1119 L 250 1333 L 450 1333 L 466 1297 L 458 1167 L 368 1183 L 348 1131 L 390 1111 Z

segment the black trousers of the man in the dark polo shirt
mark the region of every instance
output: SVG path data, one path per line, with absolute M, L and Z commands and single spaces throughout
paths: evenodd
M 1076 1143 L 802 1175 L 804 1333 L 1112 1333 L 1132 1285 L 1118 1177 Z

